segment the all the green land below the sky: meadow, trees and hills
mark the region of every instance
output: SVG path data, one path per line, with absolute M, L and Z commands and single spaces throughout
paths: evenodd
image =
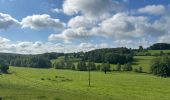
M 170 44 L 0 54 L 3 100 L 169 100 Z

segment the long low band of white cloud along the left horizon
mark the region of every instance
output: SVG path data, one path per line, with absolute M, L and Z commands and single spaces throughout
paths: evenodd
M 19 54 L 41 54 L 46 52 L 80 52 L 89 51 L 98 48 L 108 47 L 108 44 L 61 44 L 51 42 L 31 42 L 31 41 L 17 41 L 12 42 L 9 39 L 0 37 L 0 51 L 6 53 L 19 53 Z M 71 49 L 70 49 L 71 48 Z

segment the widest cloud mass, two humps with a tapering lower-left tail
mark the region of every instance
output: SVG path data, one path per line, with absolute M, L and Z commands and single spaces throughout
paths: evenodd
M 166 33 L 159 27 L 156 23 L 150 23 L 148 17 L 128 13 L 117 13 L 97 24 L 83 16 L 77 16 L 68 22 L 67 29 L 59 34 L 51 34 L 49 40 L 85 39 L 93 36 L 112 39 L 158 37 Z

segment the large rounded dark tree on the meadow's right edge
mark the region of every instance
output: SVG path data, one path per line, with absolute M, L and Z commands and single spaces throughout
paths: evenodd
M 155 58 L 151 64 L 151 73 L 162 77 L 170 76 L 170 57 Z

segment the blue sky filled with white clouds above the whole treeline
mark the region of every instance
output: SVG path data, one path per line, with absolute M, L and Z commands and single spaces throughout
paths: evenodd
M 169 0 L 0 0 L 0 52 L 170 43 Z

